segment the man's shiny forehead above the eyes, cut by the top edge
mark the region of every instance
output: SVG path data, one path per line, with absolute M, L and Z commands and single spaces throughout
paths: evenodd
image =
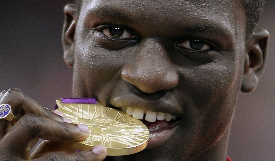
M 157 28 L 169 36 L 207 30 L 236 35 L 236 23 L 245 22 L 239 0 L 83 0 L 81 13 L 93 25 L 125 25 L 146 34 Z

